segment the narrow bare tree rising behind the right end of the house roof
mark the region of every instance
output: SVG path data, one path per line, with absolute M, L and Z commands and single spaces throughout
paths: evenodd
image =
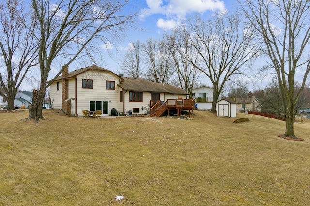
M 171 35 L 167 35 L 167 40 L 177 73 L 177 85 L 192 97 L 193 87 L 197 83 L 201 71 L 190 63 L 197 64 L 199 56 L 193 52 L 192 46 L 188 43 L 188 35 L 182 28 L 178 28 Z M 188 61 L 187 58 L 190 58 L 191 61 Z

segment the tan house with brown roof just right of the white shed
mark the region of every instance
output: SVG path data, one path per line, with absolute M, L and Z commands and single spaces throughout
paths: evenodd
M 248 111 L 260 112 L 262 108 L 261 103 L 255 96 L 252 98 L 236 98 L 235 101 L 237 102 L 237 111 L 240 113 Z

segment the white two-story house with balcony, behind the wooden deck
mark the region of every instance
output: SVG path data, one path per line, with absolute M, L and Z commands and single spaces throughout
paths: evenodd
M 222 99 L 223 92 L 224 91 L 219 94 L 219 100 Z M 193 101 L 195 101 L 195 108 L 197 109 L 211 109 L 213 101 L 213 88 L 205 85 L 193 88 Z

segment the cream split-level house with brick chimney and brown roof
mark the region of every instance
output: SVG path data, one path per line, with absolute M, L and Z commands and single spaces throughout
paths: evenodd
M 152 100 L 187 96 L 188 93 L 180 88 L 123 77 L 98 66 L 72 72 L 68 72 L 67 67 L 50 86 L 52 108 L 77 116 L 82 116 L 83 110 L 102 110 L 102 115 L 111 115 L 112 109 L 146 114 Z

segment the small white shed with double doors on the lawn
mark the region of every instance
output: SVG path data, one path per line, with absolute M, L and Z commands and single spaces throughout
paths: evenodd
M 237 103 L 231 99 L 223 98 L 217 102 L 217 116 L 237 117 Z

